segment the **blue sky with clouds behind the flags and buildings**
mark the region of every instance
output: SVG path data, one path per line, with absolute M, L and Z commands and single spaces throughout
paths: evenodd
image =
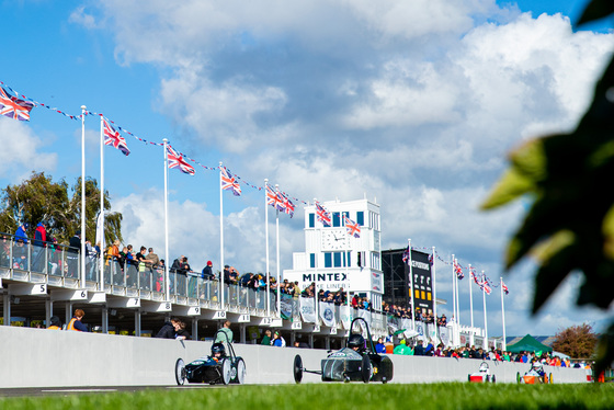
M 87 105 L 140 139 L 168 138 L 197 161 L 194 176 L 169 172 L 169 259 L 185 254 L 195 270 L 219 264 L 218 173 L 204 167 L 221 161 L 242 181 L 243 195 L 227 192 L 223 213 L 225 261 L 240 272 L 264 271 L 264 198 L 253 186 L 269 179 L 305 202 L 376 201 L 383 249 L 411 238 L 498 282 L 528 203 L 488 213 L 479 204 L 512 148 L 571 130 L 587 109 L 614 34 L 607 24 L 572 27 L 585 3 L 0 0 L 11 33 L 0 81 L 69 115 Z M 95 179 L 99 135 L 88 116 L 86 173 Z M 123 136 L 129 157 L 104 153 L 112 210 L 124 216 L 126 243 L 162 255 L 162 149 Z M 0 117 L 0 186 L 32 171 L 70 184 L 80 175 L 79 121 L 36 107 L 29 123 Z M 303 228 L 300 206 L 282 216 L 282 270 L 304 251 Z M 437 297 L 448 300 L 440 312 L 450 317 L 452 267 L 435 267 Z M 575 306 L 578 274 L 531 317 L 534 272 L 525 261 L 504 274 L 508 335 L 603 326 L 604 312 Z M 490 335 L 502 334 L 496 291 Z M 468 293 L 464 280 L 462 324 Z M 481 298 L 474 319 L 484 327 Z

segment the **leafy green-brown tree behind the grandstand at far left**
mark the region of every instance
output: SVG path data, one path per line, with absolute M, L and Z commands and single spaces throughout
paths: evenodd
M 46 223 L 47 235 L 56 237 L 58 242 L 67 243 L 75 232 L 81 229 L 81 178 L 71 189 L 65 180 L 53 182 L 52 176 L 43 172 L 33 172 L 21 184 L 9 185 L 0 193 L 0 230 L 13 234 L 16 228 L 29 223 L 29 236 L 41 221 Z M 104 193 L 104 208 L 111 209 L 109 191 Z M 86 237 L 95 238 L 95 223 L 100 210 L 100 189 L 93 179 L 86 181 Z M 105 240 L 107 243 L 122 240 L 122 214 L 106 212 Z

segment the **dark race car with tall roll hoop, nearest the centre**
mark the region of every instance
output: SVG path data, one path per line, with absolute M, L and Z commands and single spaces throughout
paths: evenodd
M 361 333 L 366 333 L 366 341 Z M 303 358 L 298 354 L 294 357 L 293 371 L 296 383 L 303 380 L 303 373 L 320 375 L 322 381 L 388 383 L 394 373 L 390 357 L 375 352 L 368 323 L 363 318 L 352 320 L 346 346 L 322 358 L 320 371 L 303 367 Z

